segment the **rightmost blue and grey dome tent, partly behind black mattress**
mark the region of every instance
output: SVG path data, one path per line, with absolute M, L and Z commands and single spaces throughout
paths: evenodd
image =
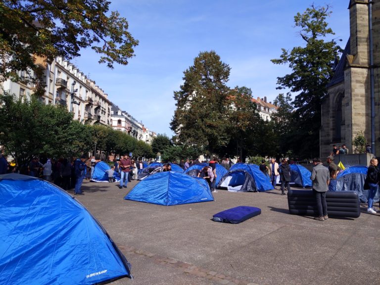
M 336 177 L 337 191 L 355 191 L 362 203 L 368 203 L 368 189 L 364 189 L 368 167 L 365 165 L 353 165 L 340 171 Z M 379 201 L 379 189 L 375 195 L 374 203 Z

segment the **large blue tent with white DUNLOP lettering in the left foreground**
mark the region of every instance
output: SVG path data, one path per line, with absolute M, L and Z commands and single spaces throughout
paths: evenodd
M 0 284 L 105 284 L 130 264 L 73 196 L 34 177 L 0 175 Z

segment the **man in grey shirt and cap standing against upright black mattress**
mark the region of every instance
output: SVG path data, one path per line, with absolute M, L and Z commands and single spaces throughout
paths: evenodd
M 329 190 L 330 173 L 329 169 L 323 166 L 320 158 L 314 158 L 313 164 L 314 168 L 310 179 L 313 182 L 313 194 L 318 209 L 318 217 L 315 217 L 314 220 L 323 222 L 329 219 L 326 192 Z

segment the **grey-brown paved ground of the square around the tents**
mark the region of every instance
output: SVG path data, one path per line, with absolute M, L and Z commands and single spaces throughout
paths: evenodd
M 357 219 L 319 222 L 289 215 L 279 190 L 219 190 L 213 202 L 166 207 L 124 200 L 136 184 L 85 181 L 75 196 L 132 264 L 134 279 L 114 285 L 379 284 L 380 215 L 365 205 Z M 237 225 L 210 220 L 240 205 L 262 213 Z

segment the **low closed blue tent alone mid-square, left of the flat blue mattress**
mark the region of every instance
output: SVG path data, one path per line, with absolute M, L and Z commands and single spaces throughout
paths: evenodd
M 165 171 L 144 179 L 124 199 L 171 206 L 213 201 L 214 197 L 204 179 Z

